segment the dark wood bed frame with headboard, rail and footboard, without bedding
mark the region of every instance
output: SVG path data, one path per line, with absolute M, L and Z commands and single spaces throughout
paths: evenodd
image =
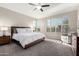
M 12 26 L 12 27 L 11 27 L 11 39 L 12 39 L 13 33 L 17 33 L 16 28 L 30 28 L 30 27 Z M 38 40 L 36 40 L 36 41 L 34 41 L 34 42 L 31 42 L 31 43 L 25 45 L 25 49 L 27 49 L 27 48 L 29 48 L 29 47 L 32 47 L 32 46 L 34 46 L 34 45 L 36 45 L 36 44 L 38 44 L 38 43 L 44 41 L 44 39 L 45 39 L 45 37 L 40 38 L 40 39 L 38 39 Z M 21 44 L 19 43 L 19 41 L 15 40 L 15 39 L 12 39 L 12 41 L 16 42 L 17 44 L 19 44 L 19 45 L 21 46 Z

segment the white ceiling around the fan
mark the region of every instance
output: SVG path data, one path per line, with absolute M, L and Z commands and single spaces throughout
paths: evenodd
M 0 3 L 0 7 L 10 9 L 15 12 L 33 17 L 33 18 L 44 18 L 58 13 L 64 13 L 72 10 L 76 10 L 78 4 L 72 3 L 42 3 L 50 4 L 50 7 L 44 7 L 44 12 L 40 10 L 33 10 L 35 6 L 29 5 L 28 3 Z

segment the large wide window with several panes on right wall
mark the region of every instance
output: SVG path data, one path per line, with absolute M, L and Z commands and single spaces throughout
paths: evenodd
M 68 33 L 68 17 L 52 18 L 47 20 L 47 32 L 63 32 Z

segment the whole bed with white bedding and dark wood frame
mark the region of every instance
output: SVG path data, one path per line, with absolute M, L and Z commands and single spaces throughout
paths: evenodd
M 11 27 L 11 39 L 18 42 L 23 48 L 29 48 L 45 39 L 40 32 L 33 32 L 30 27 Z

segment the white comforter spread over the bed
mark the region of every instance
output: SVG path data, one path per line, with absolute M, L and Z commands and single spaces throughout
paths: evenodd
M 13 39 L 17 40 L 20 42 L 23 48 L 25 48 L 25 45 L 36 41 L 38 39 L 41 39 L 45 37 L 43 33 L 40 32 L 31 32 L 31 33 L 16 33 L 13 34 Z

